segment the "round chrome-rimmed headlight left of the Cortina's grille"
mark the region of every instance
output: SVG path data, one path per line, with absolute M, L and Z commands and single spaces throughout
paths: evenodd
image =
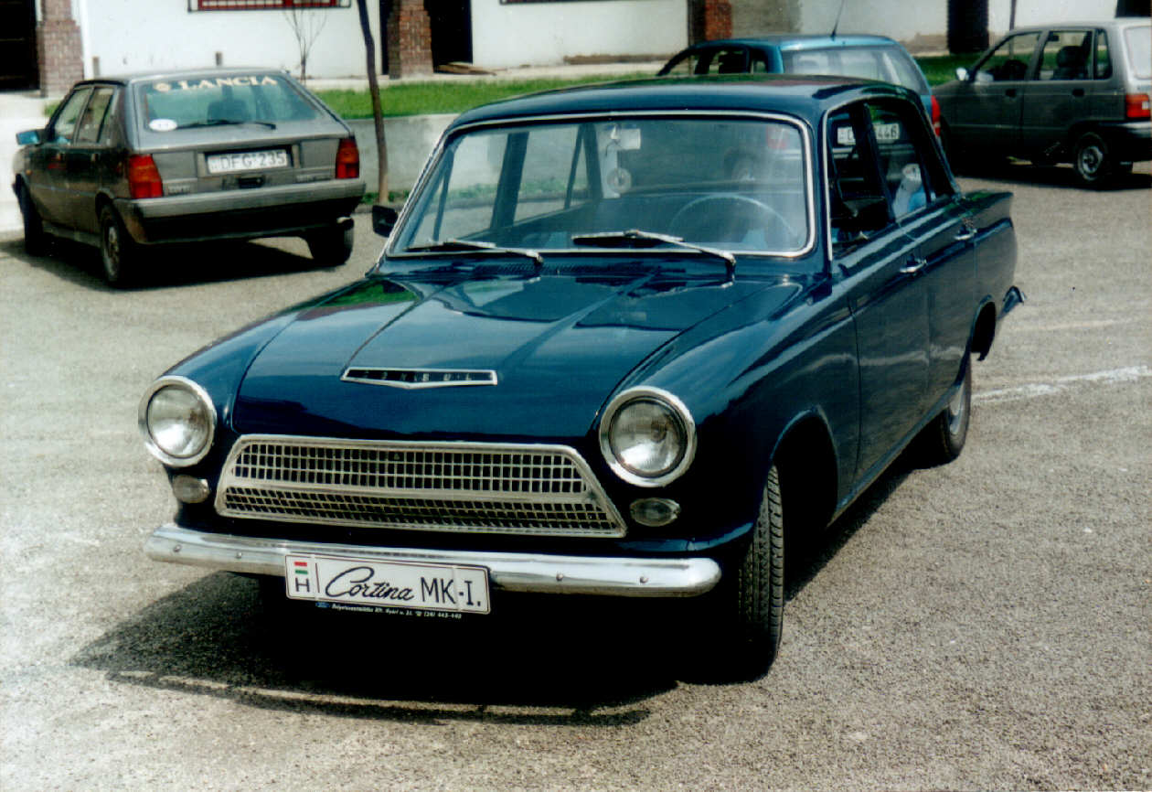
M 157 380 L 141 400 L 144 444 L 165 465 L 187 467 L 204 458 L 215 433 L 215 409 L 204 389 L 183 377 Z

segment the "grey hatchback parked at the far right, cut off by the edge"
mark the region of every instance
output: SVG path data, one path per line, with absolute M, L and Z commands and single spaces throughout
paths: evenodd
M 935 89 L 953 165 L 1013 156 L 1071 163 L 1100 186 L 1152 159 L 1152 23 L 1018 28 Z

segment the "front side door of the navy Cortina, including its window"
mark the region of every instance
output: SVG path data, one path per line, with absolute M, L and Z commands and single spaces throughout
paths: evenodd
M 886 465 L 925 410 L 929 295 L 914 271 L 917 244 L 895 221 L 885 186 L 877 125 L 864 103 L 831 113 L 825 125 L 833 267 L 844 279 L 859 362 L 857 475 Z

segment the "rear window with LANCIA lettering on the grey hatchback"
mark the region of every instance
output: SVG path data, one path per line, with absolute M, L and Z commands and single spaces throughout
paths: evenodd
M 248 121 L 308 121 L 319 112 L 280 75 L 157 80 L 137 86 L 142 122 L 153 131 Z

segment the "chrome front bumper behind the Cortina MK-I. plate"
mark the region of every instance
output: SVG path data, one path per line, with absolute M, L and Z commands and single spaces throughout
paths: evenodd
M 285 573 L 285 556 L 289 553 L 323 553 L 379 561 L 469 564 L 486 567 L 493 588 L 543 594 L 692 597 L 711 590 L 720 580 L 720 566 L 711 558 L 602 558 L 377 548 L 211 534 L 173 523 L 157 528 L 145 542 L 144 552 L 157 561 L 281 576 Z

